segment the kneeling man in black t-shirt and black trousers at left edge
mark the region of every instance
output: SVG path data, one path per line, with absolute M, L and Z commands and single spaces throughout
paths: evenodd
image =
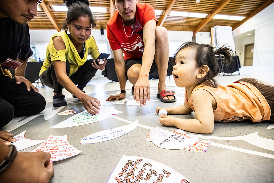
M 12 1 L 13 2 L 13 1 Z M 0 129 L 12 118 L 30 116 L 45 109 L 45 99 L 38 93 L 25 76 L 28 58 L 33 54 L 30 48 L 29 25 L 27 21 L 37 16 L 37 9 L 23 11 L 25 5 L 20 0 L 16 3 L 0 2 Z M 34 3 L 29 1 L 26 4 Z M 35 1 L 37 3 L 37 0 Z M 11 4 L 11 6 L 9 6 Z M 14 11 L 18 9 L 17 11 Z M 11 12 L 13 12 L 11 14 Z M 12 68 L 10 62 L 22 63 L 11 76 L 5 70 Z M 7 62 L 8 65 L 7 65 Z M 5 64 L 6 63 L 6 64 Z

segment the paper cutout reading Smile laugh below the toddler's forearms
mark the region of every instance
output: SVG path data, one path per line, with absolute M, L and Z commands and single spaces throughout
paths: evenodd
M 151 129 L 150 129 L 151 130 Z M 177 129 L 175 131 L 168 131 L 156 127 L 151 130 L 146 138 L 160 148 L 165 149 L 185 149 L 195 152 L 206 152 L 210 140 L 200 140 L 191 138 L 184 130 Z

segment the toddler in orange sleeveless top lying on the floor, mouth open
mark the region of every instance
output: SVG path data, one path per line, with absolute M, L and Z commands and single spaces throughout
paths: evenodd
M 209 134 L 214 122 L 274 120 L 274 86 L 254 78 L 243 78 L 227 86 L 218 85 L 216 56 L 229 64 L 232 50 L 221 47 L 213 51 L 207 44 L 184 43 L 172 58 L 174 81 L 185 87 L 185 104 L 165 109 L 168 114 L 189 114 L 195 119 L 179 119 L 161 115 L 160 123 L 189 132 Z

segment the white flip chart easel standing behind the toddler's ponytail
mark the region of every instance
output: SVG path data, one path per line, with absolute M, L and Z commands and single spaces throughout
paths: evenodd
M 233 34 L 232 34 L 232 27 L 215 25 L 214 27 L 211 27 L 210 33 L 211 33 L 211 46 L 214 49 L 218 49 L 221 46 L 226 45 L 233 50 L 233 57 L 235 59 L 233 59 L 228 66 L 223 65 L 222 57 L 217 58 L 218 64 L 221 69 L 221 72 L 223 73 L 223 76 L 225 76 L 225 73 L 231 73 L 232 75 L 232 73 L 235 71 L 238 71 L 238 74 L 233 74 L 233 75 L 240 75 L 239 58 L 237 57 L 237 54 L 236 54 L 236 48 L 235 48 Z M 235 56 L 234 56 L 234 53 L 235 53 Z

